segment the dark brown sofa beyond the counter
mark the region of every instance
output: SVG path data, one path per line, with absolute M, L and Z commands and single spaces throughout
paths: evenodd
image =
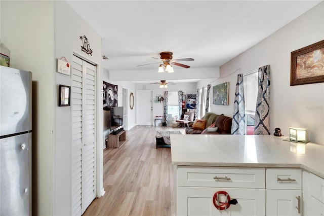
M 204 134 L 231 134 L 232 118 L 222 115 L 217 115 L 214 113 L 206 113 L 201 119 L 206 119 L 205 129 L 215 122 L 215 127 L 218 130 L 215 132 L 205 132 Z M 203 130 L 192 128 L 192 124 L 186 128 L 186 134 L 201 134 Z

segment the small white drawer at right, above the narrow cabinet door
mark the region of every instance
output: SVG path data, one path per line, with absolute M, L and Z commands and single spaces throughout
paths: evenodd
M 267 189 L 302 189 L 302 171 L 299 168 L 266 169 Z

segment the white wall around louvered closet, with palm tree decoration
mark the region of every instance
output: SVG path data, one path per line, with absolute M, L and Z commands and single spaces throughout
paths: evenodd
M 91 26 L 83 21 L 69 6 L 62 1 L 55 1 L 55 60 L 64 56 L 72 64 L 72 54 L 87 59 L 97 64 L 97 108 L 96 113 L 99 123 L 96 125 L 97 148 L 96 162 L 103 166 L 102 161 L 102 43 L 101 37 Z M 82 41 L 79 37 L 86 35 L 92 49 L 92 55 L 81 51 Z M 55 73 L 55 102 L 58 101 L 59 84 L 71 86 L 71 76 Z M 72 116 L 71 106 L 61 107 L 54 105 L 55 127 L 54 127 L 54 188 L 53 188 L 53 214 L 69 215 L 71 212 L 71 161 L 72 161 Z M 99 154 L 98 154 L 99 153 Z M 100 155 L 101 153 L 101 155 Z M 97 170 L 98 172 L 98 170 Z M 102 176 L 97 181 L 102 181 Z M 103 190 L 102 188 L 97 188 Z

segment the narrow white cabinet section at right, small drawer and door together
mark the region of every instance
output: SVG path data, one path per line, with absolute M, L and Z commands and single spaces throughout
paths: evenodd
M 301 189 L 299 168 L 266 169 L 266 215 L 301 215 Z

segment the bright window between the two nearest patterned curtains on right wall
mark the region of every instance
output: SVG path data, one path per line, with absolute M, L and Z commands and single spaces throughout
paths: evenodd
M 258 70 L 243 75 L 246 134 L 254 134 L 254 115 L 258 97 Z

